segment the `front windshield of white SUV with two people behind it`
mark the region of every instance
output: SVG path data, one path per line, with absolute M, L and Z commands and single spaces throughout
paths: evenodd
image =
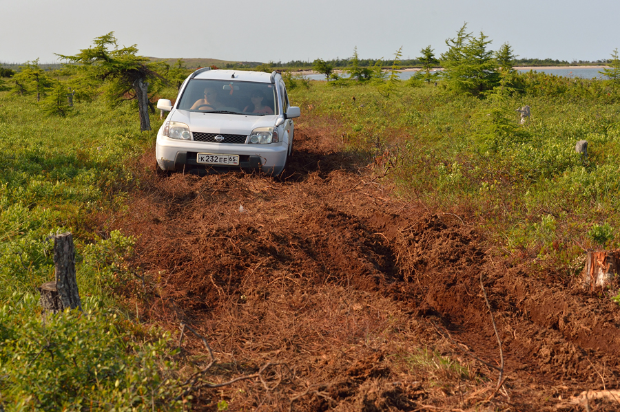
M 278 114 L 276 87 L 271 83 L 189 80 L 178 109 L 251 116 Z

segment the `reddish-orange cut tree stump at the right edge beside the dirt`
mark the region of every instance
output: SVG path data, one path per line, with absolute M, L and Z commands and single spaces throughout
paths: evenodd
M 620 250 L 589 250 L 581 272 L 581 286 L 594 292 L 612 285 L 620 268 Z

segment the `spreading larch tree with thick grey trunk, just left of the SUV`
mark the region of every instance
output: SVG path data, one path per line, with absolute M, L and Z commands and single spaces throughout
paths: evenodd
M 136 45 L 119 48 L 114 32 L 110 32 L 97 37 L 92 47 L 80 50 L 74 56 L 57 56 L 68 61 L 68 68 L 78 73 L 86 83 L 93 80 L 102 82 L 104 95 L 112 106 L 136 99 L 140 127 L 146 131 L 151 129 L 148 82 L 166 80 L 158 73 L 161 63 L 151 63 L 137 53 Z

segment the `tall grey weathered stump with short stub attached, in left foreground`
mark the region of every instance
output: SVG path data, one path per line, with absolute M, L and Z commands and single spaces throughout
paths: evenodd
M 39 304 L 45 312 L 58 313 L 70 308 L 82 310 L 75 277 L 75 248 L 71 233 L 54 236 L 56 281 L 41 285 Z

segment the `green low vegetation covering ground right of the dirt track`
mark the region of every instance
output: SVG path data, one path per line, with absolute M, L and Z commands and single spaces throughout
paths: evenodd
M 347 150 L 391 169 L 402 197 L 476 221 L 505 254 L 568 264 L 597 247 L 593 225 L 620 227 L 618 94 L 601 80 L 521 82 L 521 93 L 489 98 L 406 83 L 384 98 L 373 85 L 312 82 L 291 100 L 306 109 L 301 122 L 329 118 Z M 533 116 L 520 125 L 524 105 Z

